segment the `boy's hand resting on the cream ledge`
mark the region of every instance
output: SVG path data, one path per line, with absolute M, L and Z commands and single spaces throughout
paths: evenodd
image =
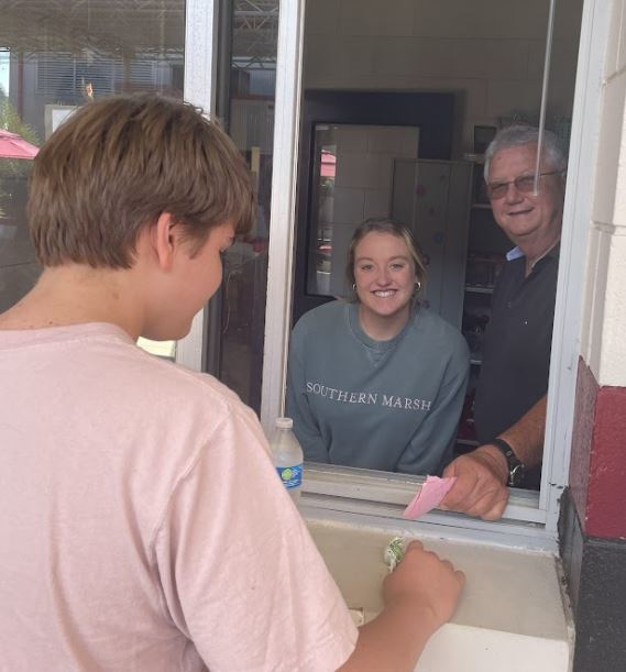
M 411 541 L 397 568 L 385 579 L 385 604 L 415 606 L 416 612 L 432 618 L 432 631 L 450 620 L 465 582 L 463 572 L 436 553 L 425 551 Z

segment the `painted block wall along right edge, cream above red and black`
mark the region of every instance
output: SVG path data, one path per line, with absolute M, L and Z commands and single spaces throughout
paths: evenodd
M 612 3 L 561 549 L 574 672 L 626 660 L 626 0 Z

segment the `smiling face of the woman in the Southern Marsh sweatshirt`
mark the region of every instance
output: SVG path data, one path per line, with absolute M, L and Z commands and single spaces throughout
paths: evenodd
M 400 238 L 381 231 L 367 233 L 354 250 L 354 282 L 362 319 L 397 320 L 402 324 L 408 320 L 416 274 Z

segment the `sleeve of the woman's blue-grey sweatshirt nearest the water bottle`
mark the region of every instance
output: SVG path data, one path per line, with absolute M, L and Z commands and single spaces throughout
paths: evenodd
M 306 339 L 301 323 L 296 324 L 289 343 L 287 373 L 287 416 L 294 420 L 294 432 L 303 447 L 305 460 L 329 463 L 326 444 L 317 419 L 309 406 L 306 392 L 305 356 Z

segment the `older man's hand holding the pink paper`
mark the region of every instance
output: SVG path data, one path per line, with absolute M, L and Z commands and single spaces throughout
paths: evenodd
M 439 508 L 461 511 L 484 520 L 502 518 L 508 500 L 508 466 L 495 445 L 481 445 L 451 462 L 443 477 L 455 476 L 457 482 Z

